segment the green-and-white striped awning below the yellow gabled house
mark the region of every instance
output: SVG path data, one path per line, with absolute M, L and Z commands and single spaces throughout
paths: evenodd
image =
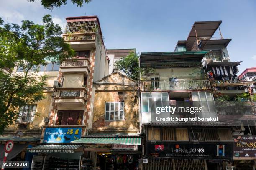
M 141 138 L 81 138 L 72 143 L 141 145 Z

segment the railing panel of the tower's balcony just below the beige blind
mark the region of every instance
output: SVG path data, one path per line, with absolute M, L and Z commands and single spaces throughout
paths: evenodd
M 87 90 L 85 87 L 77 88 L 55 88 L 56 92 L 54 98 L 56 99 L 84 99 L 86 100 Z

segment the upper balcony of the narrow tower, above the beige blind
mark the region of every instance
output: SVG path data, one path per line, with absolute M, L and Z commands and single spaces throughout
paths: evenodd
M 66 59 L 61 63 L 61 72 L 84 72 L 85 75 L 89 74 L 90 61 L 89 58 L 79 59 Z

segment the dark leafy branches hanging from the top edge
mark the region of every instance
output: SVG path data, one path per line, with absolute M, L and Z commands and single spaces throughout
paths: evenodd
M 35 2 L 36 0 L 28 0 L 28 2 Z M 73 4 L 77 4 L 78 7 L 82 7 L 84 3 L 89 3 L 91 0 L 71 0 Z M 41 0 L 44 8 L 53 10 L 54 7 L 61 7 L 61 5 L 66 5 L 67 0 Z

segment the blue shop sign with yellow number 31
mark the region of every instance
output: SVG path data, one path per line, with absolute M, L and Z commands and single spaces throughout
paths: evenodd
M 82 128 L 45 128 L 43 143 L 70 143 L 81 138 Z

